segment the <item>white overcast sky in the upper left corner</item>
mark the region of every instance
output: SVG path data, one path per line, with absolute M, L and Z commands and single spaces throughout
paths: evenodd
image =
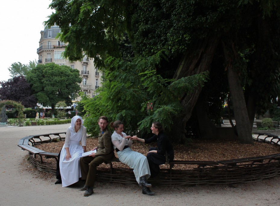
M 9 0 L 0 6 L 0 81 L 10 79 L 8 68 L 14 62 L 38 60 L 40 31 L 52 10 L 51 0 Z

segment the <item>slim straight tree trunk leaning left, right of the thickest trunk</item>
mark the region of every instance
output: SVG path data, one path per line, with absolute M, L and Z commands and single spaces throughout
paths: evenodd
M 238 72 L 232 68 L 232 58 L 224 46 L 226 59 L 226 71 L 229 82 L 229 90 L 232 98 L 233 111 L 235 114 L 236 130 L 240 143 L 254 144 L 252 137 L 252 127 L 248 117 L 244 93 L 239 81 Z M 233 55 L 237 58 L 233 43 L 228 47 L 233 51 Z

